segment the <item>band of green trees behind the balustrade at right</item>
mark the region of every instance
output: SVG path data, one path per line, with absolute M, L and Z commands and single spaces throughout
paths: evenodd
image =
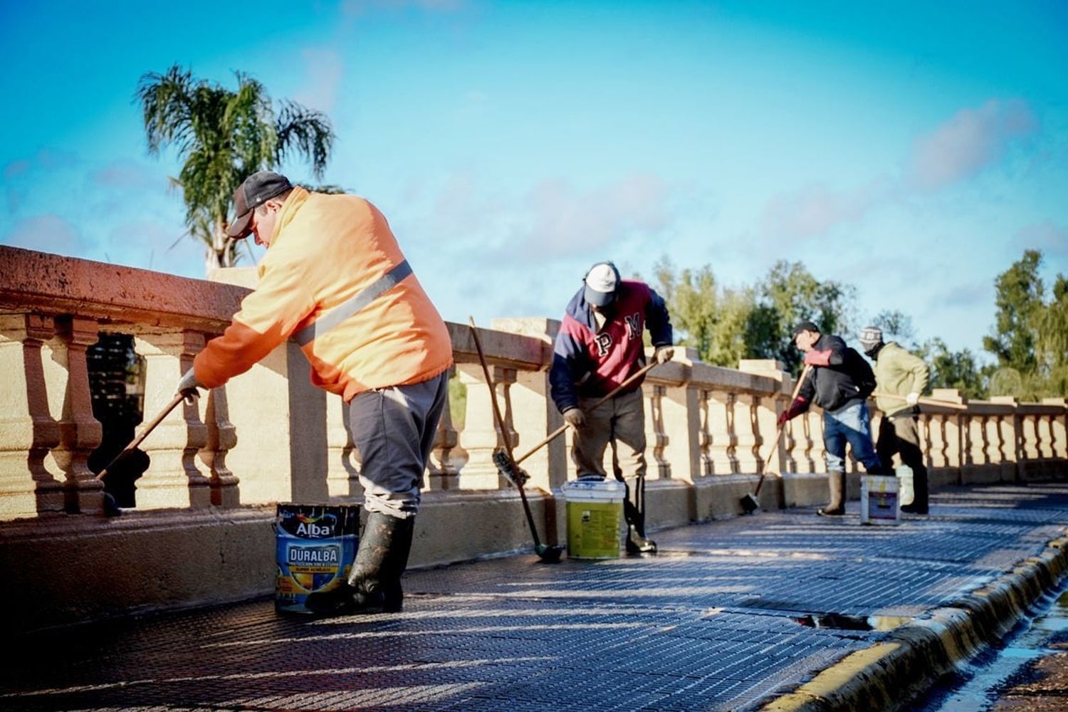
M 1025 400 L 1068 395 L 1068 279 L 1058 274 L 1046 301 L 1039 278 L 1041 253 L 1028 250 L 996 280 L 993 334 L 984 348 L 996 364 L 983 364 L 969 349 L 952 351 L 941 338 L 917 344 L 912 319 L 883 311 L 868 323 L 915 352 L 930 366 L 930 386 L 956 389 L 970 398 L 1014 395 Z M 819 281 L 800 263 L 779 262 L 751 286 L 719 284 L 708 265 L 678 270 L 663 257 L 655 267 L 657 290 L 668 302 L 676 341 L 701 359 L 737 367 L 741 359 L 776 359 L 797 374 L 801 352 L 791 331 L 802 319 L 848 341 L 857 329 L 855 289 Z

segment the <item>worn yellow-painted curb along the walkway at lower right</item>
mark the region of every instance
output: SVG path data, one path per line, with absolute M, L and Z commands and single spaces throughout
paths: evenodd
M 886 639 L 846 655 L 763 712 L 897 710 L 973 658 L 1022 618 L 1068 571 L 1068 536 L 948 605 L 933 608 Z

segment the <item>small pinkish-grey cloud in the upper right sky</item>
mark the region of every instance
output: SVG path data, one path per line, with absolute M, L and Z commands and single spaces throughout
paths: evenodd
M 990 99 L 978 109 L 961 109 L 916 141 L 910 184 L 938 190 L 969 178 L 996 162 L 1014 139 L 1035 130 L 1037 122 L 1022 100 Z

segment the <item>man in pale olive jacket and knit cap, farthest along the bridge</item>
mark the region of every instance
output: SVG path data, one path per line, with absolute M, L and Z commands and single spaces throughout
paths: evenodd
M 875 380 L 879 392 L 900 396 L 877 396 L 875 399 L 884 413 L 879 423 L 876 453 L 886 472 L 893 470 L 894 454 L 900 455 L 901 462 L 912 470 L 914 494 L 912 503 L 902 505 L 901 511 L 926 515 L 927 468 L 924 466 L 924 450 L 920 442 L 920 409 L 916 402 L 927 387 L 927 364 L 895 342 L 883 343 L 882 330 L 878 327 L 864 327 L 860 341 L 865 355 L 875 361 Z

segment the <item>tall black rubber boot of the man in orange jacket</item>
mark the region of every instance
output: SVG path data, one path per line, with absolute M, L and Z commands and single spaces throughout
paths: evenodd
M 400 574 L 408 568 L 415 518 L 367 515 L 367 525 L 348 574 L 352 613 L 396 613 L 404 604 Z

